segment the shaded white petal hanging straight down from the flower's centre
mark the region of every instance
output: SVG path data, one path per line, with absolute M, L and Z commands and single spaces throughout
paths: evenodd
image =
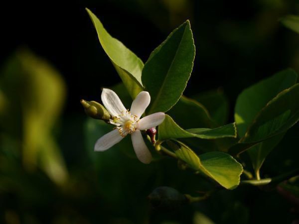
M 149 149 L 142 137 L 140 130 L 136 130 L 131 134 L 132 143 L 134 147 L 134 151 L 137 155 L 137 158 L 143 163 L 150 163 L 151 154 Z

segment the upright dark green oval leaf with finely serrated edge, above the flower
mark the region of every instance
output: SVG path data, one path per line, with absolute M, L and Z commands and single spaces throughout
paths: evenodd
M 142 73 L 151 97 L 149 113 L 166 112 L 181 97 L 191 75 L 195 46 L 187 20 L 152 51 Z

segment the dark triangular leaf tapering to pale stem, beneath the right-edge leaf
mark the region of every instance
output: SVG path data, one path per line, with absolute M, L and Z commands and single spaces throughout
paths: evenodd
M 255 172 L 258 172 L 268 154 L 278 145 L 281 139 L 284 137 L 285 133 L 273 136 L 265 141 L 262 141 L 247 150 L 252 166 Z

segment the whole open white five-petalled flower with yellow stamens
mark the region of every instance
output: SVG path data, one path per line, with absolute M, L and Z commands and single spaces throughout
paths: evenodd
M 138 159 L 143 163 L 150 163 L 151 154 L 140 130 L 159 125 L 163 122 L 165 114 L 156 112 L 140 119 L 150 102 L 149 93 L 145 91 L 138 94 L 130 111 L 124 107 L 117 94 L 110 89 L 103 89 L 101 98 L 105 108 L 112 116 L 110 123 L 116 125 L 116 128 L 97 140 L 95 151 L 105 151 L 120 142 L 127 134 L 131 134 Z

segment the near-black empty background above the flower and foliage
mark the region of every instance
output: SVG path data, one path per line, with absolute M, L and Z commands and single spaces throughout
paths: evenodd
M 196 58 L 187 96 L 222 87 L 234 105 L 240 91 L 252 83 L 288 67 L 298 70 L 297 34 L 278 21 L 297 13 L 297 1 L 181 1 L 184 6 L 176 10 L 167 6 L 167 0 L 1 6 L 0 62 L 17 47 L 29 47 L 66 80 L 67 112 L 80 112 L 81 98 L 99 99 L 101 87 L 120 81 L 98 43 L 85 11 L 88 7 L 144 62 L 172 29 L 190 19 Z

